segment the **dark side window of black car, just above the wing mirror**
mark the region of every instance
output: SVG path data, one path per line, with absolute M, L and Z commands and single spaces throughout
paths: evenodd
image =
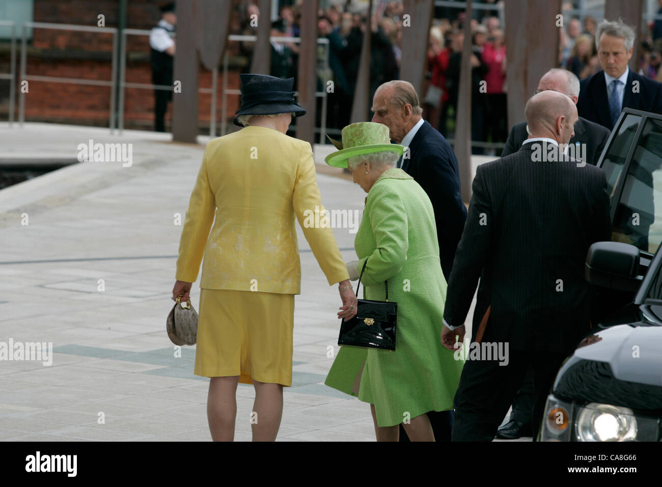
M 628 166 L 612 240 L 654 254 L 662 241 L 662 121 L 647 119 Z

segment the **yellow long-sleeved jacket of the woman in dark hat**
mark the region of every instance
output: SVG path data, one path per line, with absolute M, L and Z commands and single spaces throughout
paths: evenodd
M 308 142 L 250 126 L 214 138 L 189 201 L 175 277 L 195 282 L 204 253 L 201 288 L 300 294 L 296 215 L 328 283 L 346 280 L 332 230 L 304 225 L 306 210 L 323 209 Z

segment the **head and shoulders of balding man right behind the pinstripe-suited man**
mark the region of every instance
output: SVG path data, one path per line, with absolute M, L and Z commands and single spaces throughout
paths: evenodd
M 577 76 L 568 70 L 561 70 L 559 68 L 553 68 L 547 71 L 540 82 L 538 83 L 538 89 L 536 93 L 540 91 L 545 91 L 546 89 L 551 89 L 552 91 L 558 91 L 567 95 L 575 104 L 579 99 L 579 79 Z M 592 164 L 595 166 L 600 159 L 600 154 L 602 154 L 602 149 L 607 143 L 610 132 L 587 119 L 579 117 L 577 123 L 575 123 L 575 135 L 570 139 L 570 150 L 574 150 L 575 159 L 582 160 L 587 164 Z M 516 123 L 510 129 L 510 135 L 508 135 L 508 140 L 506 140 L 506 145 L 503 148 L 501 157 L 508 156 L 513 152 L 517 152 L 522 147 L 522 142 L 528 138 L 528 133 L 526 132 L 526 122 Z M 577 150 L 577 144 L 579 144 L 579 151 Z

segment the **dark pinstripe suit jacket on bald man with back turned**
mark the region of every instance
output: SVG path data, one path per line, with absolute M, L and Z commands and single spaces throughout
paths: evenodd
M 587 251 L 610 238 L 606 178 L 589 164 L 534 160 L 533 146 L 478 167 L 444 319 L 464 323 L 480 278 L 472 342 L 491 305 L 484 341 L 567 352 L 589 330 Z

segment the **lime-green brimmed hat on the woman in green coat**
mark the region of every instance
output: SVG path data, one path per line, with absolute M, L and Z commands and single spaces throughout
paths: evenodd
M 383 123 L 351 123 L 342 129 L 342 142 L 333 140 L 327 135 L 334 146 L 340 150 L 326 156 L 324 162 L 334 168 L 346 168 L 348 158 L 363 154 L 392 150 L 401 156 L 404 153 L 404 146 L 391 144 L 389 133 L 389 127 Z

